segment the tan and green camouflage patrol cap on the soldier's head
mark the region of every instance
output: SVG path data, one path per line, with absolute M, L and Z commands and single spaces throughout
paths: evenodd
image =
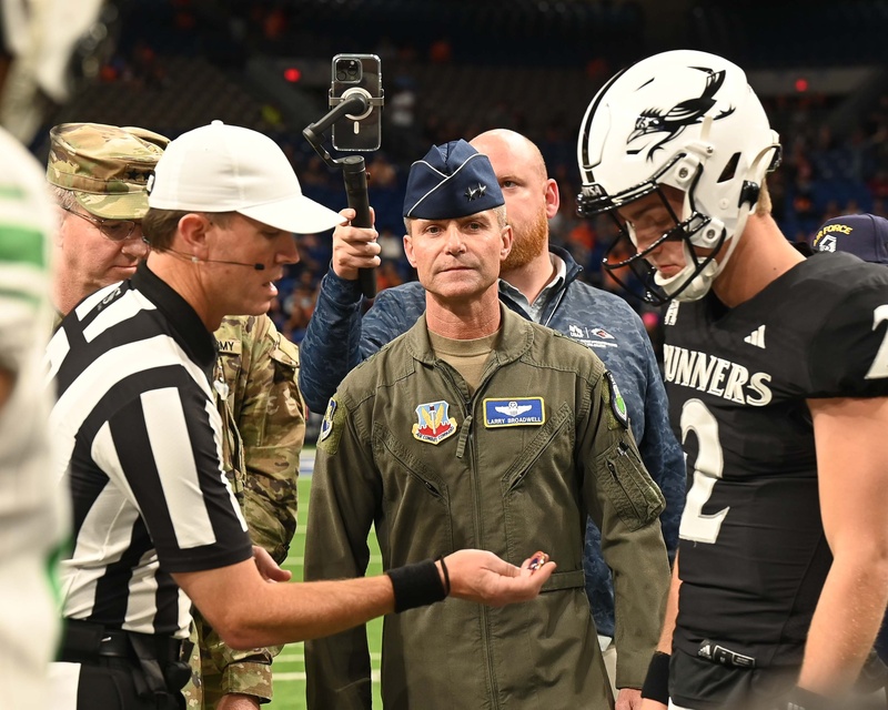
M 62 123 L 49 132 L 47 180 L 73 191 L 89 213 L 109 220 L 141 220 L 145 184 L 168 138 L 139 128 Z

